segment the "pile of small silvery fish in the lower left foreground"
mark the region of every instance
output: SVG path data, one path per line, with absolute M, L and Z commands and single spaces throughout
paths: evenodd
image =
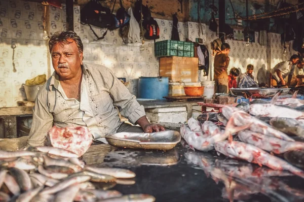
M 113 186 L 110 184 L 134 178 L 135 173 L 86 165 L 77 154 L 64 149 L 0 150 L 0 166 L 0 201 L 155 201 L 148 194 L 105 190 Z

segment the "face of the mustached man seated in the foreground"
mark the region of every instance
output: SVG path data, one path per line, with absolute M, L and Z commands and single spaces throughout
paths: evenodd
M 83 53 L 79 53 L 76 43 L 57 43 L 52 47 L 52 64 L 62 80 L 69 80 L 81 74 Z

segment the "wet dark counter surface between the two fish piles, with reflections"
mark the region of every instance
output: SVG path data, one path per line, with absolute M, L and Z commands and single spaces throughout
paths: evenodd
M 298 176 L 180 143 L 169 151 L 92 145 L 83 158 L 95 166 L 132 170 L 134 184 L 111 189 L 151 194 L 156 201 L 304 201 L 304 179 Z

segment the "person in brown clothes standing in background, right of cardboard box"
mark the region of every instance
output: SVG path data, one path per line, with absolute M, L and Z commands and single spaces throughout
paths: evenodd
M 214 57 L 214 91 L 215 93 L 228 93 L 228 74 L 227 68 L 230 62 L 230 45 L 223 43 L 221 51 Z

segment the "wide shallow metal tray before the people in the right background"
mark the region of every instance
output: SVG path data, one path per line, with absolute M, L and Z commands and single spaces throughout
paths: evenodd
M 244 94 L 252 97 L 273 97 L 282 90 L 281 95 L 286 95 L 290 88 L 231 88 L 230 92 L 235 96 L 244 96 Z

